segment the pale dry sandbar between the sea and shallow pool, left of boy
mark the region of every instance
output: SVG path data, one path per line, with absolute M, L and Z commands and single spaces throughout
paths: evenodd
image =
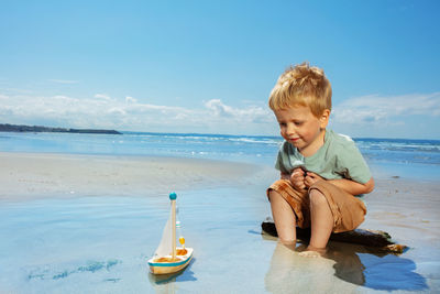
M 261 182 L 252 164 L 222 161 L 0 152 L 0 200 L 164 195 Z

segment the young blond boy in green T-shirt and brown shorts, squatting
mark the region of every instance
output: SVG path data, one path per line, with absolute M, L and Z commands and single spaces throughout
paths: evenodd
M 366 214 L 354 195 L 373 190 L 374 179 L 354 142 L 327 130 L 331 85 L 318 67 L 302 63 L 282 74 L 268 105 L 285 139 L 276 168 L 280 179 L 267 196 L 279 240 L 295 244 L 296 226 L 311 227 L 304 255 L 324 251 L 330 233 L 355 229 Z

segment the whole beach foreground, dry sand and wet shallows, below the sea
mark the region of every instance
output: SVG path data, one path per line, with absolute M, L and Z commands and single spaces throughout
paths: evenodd
M 363 198 L 361 228 L 389 232 L 407 252 L 331 242 L 328 258 L 310 260 L 261 235 L 276 177 L 222 161 L 0 153 L 0 293 L 440 291 L 438 183 L 387 175 Z M 195 259 L 157 279 L 146 258 L 172 190 Z

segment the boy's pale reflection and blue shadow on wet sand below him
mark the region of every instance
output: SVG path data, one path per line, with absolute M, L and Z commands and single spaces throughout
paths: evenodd
M 426 279 L 414 272 L 416 264 L 409 259 L 341 242 L 330 242 L 323 259 L 300 257 L 298 252 L 305 249 L 304 244 L 288 248 L 277 243 L 265 276 L 267 291 L 338 291 L 337 285 L 331 282 L 332 276 L 349 282 L 354 287 L 359 285 L 385 291 L 428 288 Z

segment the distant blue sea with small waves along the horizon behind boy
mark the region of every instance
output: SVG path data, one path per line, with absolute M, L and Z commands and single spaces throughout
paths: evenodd
M 373 174 L 440 179 L 440 140 L 353 138 Z M 175 156 L 274 165 L 283 139 L 264 135 L 2 132 L 1 152 Z

